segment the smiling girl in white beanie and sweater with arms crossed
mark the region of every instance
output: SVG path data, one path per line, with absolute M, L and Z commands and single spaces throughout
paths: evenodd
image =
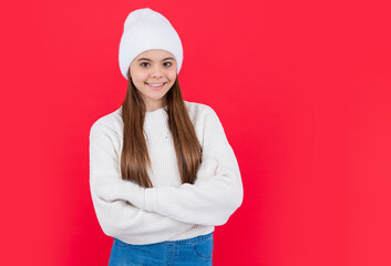
M 90 188 L 114 238 L 109 265 L 212 265 L 213 232 L 241 205 L 215 111 L 184 101 L 181 39 L 162 14 L 131 12 L 120 42 L 126 98 L 90 130 Z

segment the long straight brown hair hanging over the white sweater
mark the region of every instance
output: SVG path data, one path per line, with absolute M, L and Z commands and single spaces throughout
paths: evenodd
M 163 106 L 165 105 L 182 183 L 194 184 L 203 151 L 182 98 L 177 76 L 165 95 Z M 143 187 L 152 187 L 146 171 L 146 167 L 151 167 L 151 160 L 144 136 L 145 110 L 144 100 L 127 72 L 126 98 L 122 104 L 124 132 L 121 175 L 123 180 L 134 181 Z

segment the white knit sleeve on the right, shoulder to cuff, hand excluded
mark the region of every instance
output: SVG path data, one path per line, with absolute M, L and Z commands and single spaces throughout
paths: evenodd
M 203 161 L 217 161 L 216 174 L 194 185 L 145 190 L 144 207 L 183 223 L 223 225 L 241 205 L 244 190 L 234 151 L 223 125 L 212 108 L 205 114 Z

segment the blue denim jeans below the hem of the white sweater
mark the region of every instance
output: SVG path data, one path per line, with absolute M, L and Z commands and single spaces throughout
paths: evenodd
M 212 266 L 213 244 L 213 232 L 150 245 L 131 245 L 114 238 L 109 266 Z

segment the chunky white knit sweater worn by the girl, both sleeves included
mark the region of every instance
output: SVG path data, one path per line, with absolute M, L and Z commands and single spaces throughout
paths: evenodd
M 90 188 L 106 235 L 134 245 L 192 238 L 214 232 L 241 205 L 239 166 L 217 114 L 206 104 L 185 105 L 203 147 L 194 185 L 181 182 L 165 108 L 145 114 L 152 188 L 121 178 L 122 106 L 92 125 Z

